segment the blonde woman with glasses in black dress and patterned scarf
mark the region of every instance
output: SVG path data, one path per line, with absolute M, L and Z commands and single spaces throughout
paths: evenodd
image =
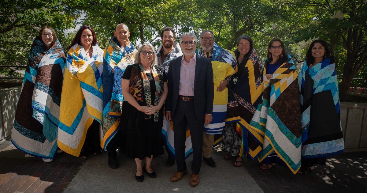
M 152 159 L 164 153 L 160 144 L 164 117 L 161 107 L 168 90 L 166 73 L 157 65 L 152 44 L 142 44 L 134 62 L 126 67 L 121 81 L 124 96 L 121 129 L 127 133 L 126 154 L 137 164 L 135 179 L 142 182 L 143 171 L 156 178 Z

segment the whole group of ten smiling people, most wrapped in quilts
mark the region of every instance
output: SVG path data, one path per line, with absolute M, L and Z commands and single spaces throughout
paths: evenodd
M 49 162 L 65 151 L 81 160 L 108 151 L 117 168 L 119 153 L 135 159 L 135 178 L 150 178 L 153 157 L 177 161 L 176 182 L 188 173 L 200 182 L 203 160 L 222 143 L 226 160 L 257 158 L 295 174 L 309 173 L 326 156 L 344 151 L 335 61 L 327 44 L 310 45 L 301 72 L 283 42 L 269 42 L 264 68 L 251 37 L 242 35 L 232 52 L 185 32 L 176 41 L 172 27 L 161 32 L 157 50 L 137 50 L 125 24 L 118 24 L 106 48 L 90 26 L 82 26 L 64 53 L 54 29 L 41 28 L 30 49 L 12 129 L 12 143 L 26 157 Z M 200 43 L 200 49 L 197 49 Z M 142 166 L 142 160 L 145 164 Z

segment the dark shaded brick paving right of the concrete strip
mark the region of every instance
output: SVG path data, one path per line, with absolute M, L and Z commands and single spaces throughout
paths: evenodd
M 367 151 L 330 156 L 326 165 L 316 165 L 309 174 L 295 175 L 289 168 L 279 165 L 273 169 L 259 169 L 257 160 L 245 159 L 244 167 L 265 193 L 367 192 Z

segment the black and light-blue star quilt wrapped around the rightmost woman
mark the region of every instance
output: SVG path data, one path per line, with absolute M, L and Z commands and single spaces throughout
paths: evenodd
M 331 156 L 344 151 L 334 57 L 312 68 L 303 63 L 301 91 L 302 158 Z

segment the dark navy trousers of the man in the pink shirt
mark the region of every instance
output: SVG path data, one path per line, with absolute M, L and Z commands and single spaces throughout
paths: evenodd
M 194 101 L 177 100 L 176 111 L 173 117 L 175 154 L 177 160 L 177 171 L 186 169 L 186 126 L 189 125 L 192 143 L 193 162 L 191 166 L 195 175 L 199 174 L 201 167 L 201 156 L 203 155 L 203 133 L 204 120 L 198 120 L 195 115 Z

